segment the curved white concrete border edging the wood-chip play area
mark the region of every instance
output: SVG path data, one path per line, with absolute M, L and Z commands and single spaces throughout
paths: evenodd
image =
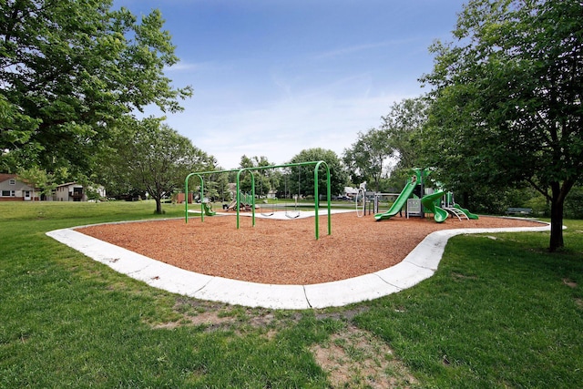
M 549 224 L 543 224 L 542 227 L 438 230 L 427 235 L 403 261 L 390 268 L 347 280 L 312 285 L 242 282 L 185 271 L 74 229 L 52 230 L 46 235 L 115 271 L 168 292 L 249 307 L 301 310 L 373 300 L 410 288 L 435 273 L 445 244 L 455 235 L 550 230 Z

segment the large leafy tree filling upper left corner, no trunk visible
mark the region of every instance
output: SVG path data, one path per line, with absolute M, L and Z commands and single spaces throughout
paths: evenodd
M 89 175 L 119 118 L 150 104 L 179 110 L 190 87 L 158 10 L 138 21 L 111 0 L 0 2 L 0 169 Z

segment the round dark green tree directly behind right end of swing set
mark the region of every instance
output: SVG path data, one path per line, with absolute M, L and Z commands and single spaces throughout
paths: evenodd
M 290 163 L 312 162 L 323 160 L 330 169 L 330 186 L 332 194 L 341 193 L 344 186 L 348 183 L 348 174 L 343 168 L 341 160 L 332 150 L 323 148 L 309 148 L 302 150 L 295 155 Z M 292 168 L 288 174 L 286 181 L 288 192 L 295 193 L 296 189 L 300 189 L 300 194 L 303 196 L 313 196 L 313 169 L 315 165 L 303 166 L 299 168 Z M 326 174 L 324 169 L 318 172 L 318 193 L 326 195 Z

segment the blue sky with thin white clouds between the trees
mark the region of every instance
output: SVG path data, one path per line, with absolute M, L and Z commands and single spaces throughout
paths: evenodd
M 426 92 L 428 47 L 451 40 L 458 0 L 115 0 L 159 8 L 194 96 L 167 123 L 224 169 L 281 164 L 304 148 L 342 157 L 394 102 Z M 161 113 L 148 112 L 150 114 Z

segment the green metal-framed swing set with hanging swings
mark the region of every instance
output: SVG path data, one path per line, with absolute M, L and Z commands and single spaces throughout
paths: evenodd
M 266 169 L 279 169 L 279 168 L 292 168 L 292 167 L 298 167 L 298 196 L 296 196 L 295 198 L 295 204 L 294 204 L 294 212 L 289 212 L 289 216 L 288 216 L 288 211 L 286 210 L 286 216 L 290 219 L 296 219 L 300 216 L 300 211 L 298 210 L 298 197 L 299 197 L 299 193 L 300 193 L 300 169 L 299 167 L 302 166 L 314 166 L 313 169 L 313 177 L 314 177 L 314 185 L 313 185 L 313 193 L 314 193 L 314 199 L 315 199 L 315 204 L 314 204 L 314 210 L 315 210 L 315 214 L 314 214 L 314 228 L 315 228 L 315 235 L 316 235 L 316 240 L 318 240 L 320 238 L 320 233 L 319 233 L 319 195 L 318 195 L 318 172 L 320 170 L 320 168 L 323 166 L 326 169 L 326 191 L 327 191 L 327 202 L 328 202 L 328 235 L 332 234 L 332 206 L 331 206 L 331 186 L 330 186 L 330 168 L 328 167 L 328 164 L 323 161 L 323 160 L 319 160 L 319 161 L 310 161 L 310 162 L 298 162 L 298 163 L 289 163 L 289 164 L 284 164 L 284 165 L 274 165 L 274 166 L 261 166 L 261 167 L 254 167 L 254 168 L 242 168 L 242 169 L 230 169 L 230 170 L 213 170 L 213 171 L 201 171 L 201 172 L 193 172 L 193 173 L 189 173 L 188 176 L 186 176 L 186 179 L 184 180 L 184 192 L 185 193 L 189 193 L 189 179 L 193 176 L 196 176 L 199 178 L 200 180 L 200 196 L 201 198 L 204 197 L 204 179 L 203 176 L 205 175 L 209 175 L 209 174 L 215 174 L 215 173 L 229 173 L 229 172 L 237 172 L 237 182 L 236 182 L 236 193 L 237 193 L 237 206 L 235 207 L 235 209 L 237 210 L 237 230 L 239 230 L 240 228 L 240 176 L 243 173 L 247 173 L 249 172 L 249 174 L 251 174 L 251 225 L 254 227 L 255 226 L 255 176 L 253 174 L 254 171 L 257 170 L 266 170 Z M 286 181 L 286 186 L 287 186 L 287 181 Z M 286 188 L 287 190 L 287 188 Z M 273 212 L 274 213 L 274 212 Z M 297 214 L 297 216 L 295 216 Z M 200 204 L 200 220 L 204 221 L 204 215 L 205 215 L 205 211 L 204 211 L 204 204 Z M 188 223 L 189 222 L 189 204 L 188 201 L 185 202 L 185 222 Z

